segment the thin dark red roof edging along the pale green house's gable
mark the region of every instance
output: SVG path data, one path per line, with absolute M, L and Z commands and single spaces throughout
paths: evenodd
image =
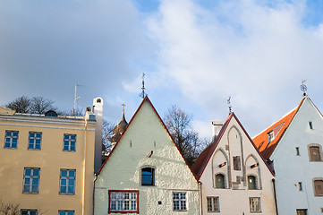
M 159 119 L 160 123 L 161 123 L 161 124 L 163 125 L 163 127 L 166 129 L 166 133 L 169 135 L 169 137 L 171 138 L 172 142 L 174 143 L 174 140 L 173 140 L 173 138 L 172 138 L 172 135 L 168 132 L 168 129 L 167 129 L 167 127 L 166 127 L 165 123 L 163 122 L 163 120 L 161 119 L 161 117 L 158 115 L 157 110 L 156 110 L 156 109 L 155 109 L 155 107 L 152 105 L 152 103 L 151 103 L 151 101 L 149 100 L 148 96 L 146 96 L 146 97 L 142 100 L 142 102 L 141 102 L 141 104 L 140 104 L 140 107 L 138 107 L 137 111 L 136 111 L 136 112 L 135 112 L 135 114 L 132 116 L 131 121 L 129 122 L 129 124 L 128 124 L 128 125 L 127 125 L 127 127 L 125 128 L 125 130 L 124 130 L 123 134 L 121 135 L 121 137 L 120 137 L 119 141 L 115 143 L 115 147 L 111 150 L 110 154 L 109 154 L 109 155 L 107 156 L 107 158 L 106 158 L 106 161 L 105 161 L 105 162 L 104 162 L 104 164 L 101 166 L 101 168 L 98 170 L 98 175 L 100 174 L 101 170 L 102 170 L 102 169 L 104 168 L 104 166 L 106 165 L 107 160 L 111 157 L 111 155 L 114 153 L 115 149 L 118 147 L 119 142 L 121 142 L 121 140 L 123 139 L 123 135 L 124 135 L 124 133 L 127 133 L 128 128 L 132 125 L 132 121 L 133 121 L 133 119 L 137 116 L 137 114 L 138 114 L 138 113 L 139 113 L 139 111 L 140 111 L 140 108 L 143 106 L 143 104 L 144 104 L 145 102 L 148 102 L 148 103 L 149 103 L 149 106 L 150 106 L 150 107 L 152 107 L 152 109 L 154 110 L 154 113 L 157 115 L 157 117 L 158 117 L 158 119 Z M 178 147 L 177 147 L 177 145 L 176 145 L 175 143 L 174 143 L 174 145 L 175 145 L 175 147 L 176 147 L 177 151 L 179 152 L 179 154 L 181 155 L 181 157 L 182 157 L 183 161 L 185 162 L 185 164 L 186 164 L 187 168 L 189 168 L 189 169 L 190 169 L 190 171 L 191 171 L 190 166 L 188 165 L 188 163 L 186 162 L 186 160 L 183 158 L 183 154 L 182 154 L 182 153 L 181 153 L 181 151 L 178 149 Z M 193 172 L 192 172 L 192 171 L 191 171 L 191 175 L 195 177 L 195 175 L 193 174 Z M 197 180 L 197 178 L 196 178 L 196 177 L 195 177 L 195 179 Z

